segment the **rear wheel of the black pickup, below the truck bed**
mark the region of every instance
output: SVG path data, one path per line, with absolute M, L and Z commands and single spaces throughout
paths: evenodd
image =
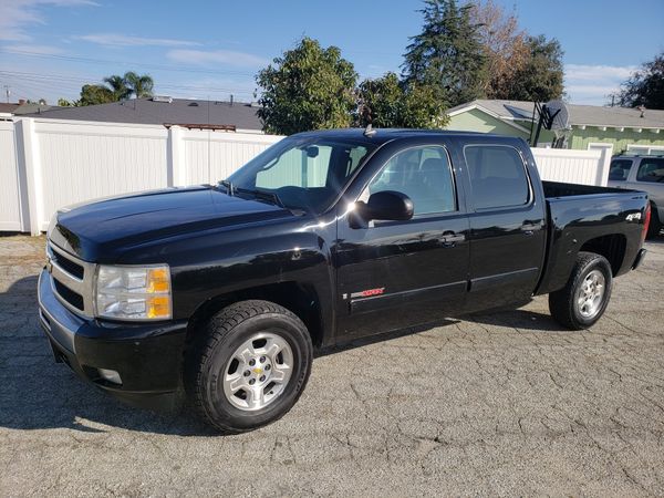
M 612 283 L 606 258 L 594 252 L 579 252 L 567 286 L 549 294 L 551 317 L 571 330 L 592 326 L 606 310 Z

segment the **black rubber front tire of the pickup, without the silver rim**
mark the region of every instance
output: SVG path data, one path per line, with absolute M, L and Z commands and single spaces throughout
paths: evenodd
M 224 392 L 224 375 L 234 354 L 256 334 L 269 331 L 284 340 L 292 352 L 292 372 L 280 394 L 260 409 L 240 409 Z M 302 321 L 269 301 L 242 301 L 215 314 L 196 331 L 185 362 L 185 388 L 205 422 L 225 434 L 253 430 L 281 418 L 295 404 L 311 372 L 313 346 Z

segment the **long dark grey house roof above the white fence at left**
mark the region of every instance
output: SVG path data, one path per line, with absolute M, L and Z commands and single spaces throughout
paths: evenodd
M 154 96 L 83 107 L 59 107 L 28 116 L 53 120 L 180 125 L 260 133 L 258 106 L 240 102 L 201 101 Z

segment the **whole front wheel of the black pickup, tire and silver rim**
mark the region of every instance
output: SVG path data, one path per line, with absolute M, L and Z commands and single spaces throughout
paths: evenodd
M 203 418 L 237 434 L 282 417 L 304 390 L 313 347 L 292 312 L 269 301 L 224 309 L 198 331 L 185 386 Z

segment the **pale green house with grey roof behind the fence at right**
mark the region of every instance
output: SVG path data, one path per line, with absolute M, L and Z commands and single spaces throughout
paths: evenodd
M 664 111 L 566 104 L 569 127 L 564 148 L 587 149 L 611 144 L 615 153 L 664 151 Z M 447 129 L 497 133 L 532 142 L 535 104 L 523 101 L 477 100 L 450 108 Z M 535 113 L 537 116 L 537 113 Z M 542 129 L 538 146 L 550 145 L 553 132 Z

